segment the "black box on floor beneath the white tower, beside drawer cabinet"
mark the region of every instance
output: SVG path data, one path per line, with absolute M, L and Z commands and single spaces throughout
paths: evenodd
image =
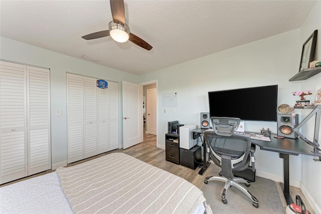
M 202 162 L 202 150 L 200 146 L 195 146 L 192 149 L 180 148 L 180 164 L 191 169 L 196 169 L 199 163 Z

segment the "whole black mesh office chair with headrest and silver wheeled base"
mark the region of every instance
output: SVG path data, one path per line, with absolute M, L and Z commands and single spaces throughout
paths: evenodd
M 205 131 L 204 138 L 206 145 L 210 149 L 211 161 L 222 168 L 220 176 L 206 177 L 204 183 L 211 180 L 225 182 L 221 195 L 223 203 L 227 203 L 225 198 L 229 187 L 235 186 L 246 194 L 252 205 L 259 207 L 258 200 L 241 184 L 250 186 L 250 182 L 239 177 L 234 177 L 234 171 L 243 171 L 249 166 L 251 138 L 245 135 L 234 134 L 238 128 L 240 119 L 238 118 L 216 118 L 211 117 L 213 131 Z

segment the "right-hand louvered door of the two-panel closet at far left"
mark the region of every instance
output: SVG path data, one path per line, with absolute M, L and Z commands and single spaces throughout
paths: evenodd
M 50 70 L 27 66 L 28 175 L 51 169 Z

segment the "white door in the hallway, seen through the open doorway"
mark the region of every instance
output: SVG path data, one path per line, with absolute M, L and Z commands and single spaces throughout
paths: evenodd
M 147 131 L 156 135 L 156 88 L 147 89 Z

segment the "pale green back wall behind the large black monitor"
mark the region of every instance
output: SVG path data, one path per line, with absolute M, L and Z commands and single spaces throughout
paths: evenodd
M 293 105 L 297 98 L 291 92 L 300 89 L 300 84 L 288 79 L 298 71 L 299 33 L 299 30 L 286 32 L 143 75 L 142 82 L 158 79 L 159 147 L 165 148 L 168 121 L 200 126 L 200 113 L 209 112 L 208 91 L 278 84 L 278 105 Z M 167 92 L 178 94 L 176 113 L 173 108 L 162 107 L 162 93 Z M 264 99 L 264 95 L 253 97 L 253 101 L 255 99 Z M 218 104 L 237 108 L 243 103 L 235 103 L 233 97 L 227 97 Z M 264 127 L 276 133 L 276 126 L 276 122 L 245 121 L 246 131 L 259 132 Z M 283 180 L 283 162 L 277 153 L 257 148 L 255 156 L 257 175 Z M 290 156 L 291 185 L 299 186 L 300 159 L 300 156 Z

